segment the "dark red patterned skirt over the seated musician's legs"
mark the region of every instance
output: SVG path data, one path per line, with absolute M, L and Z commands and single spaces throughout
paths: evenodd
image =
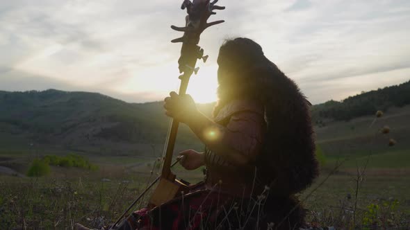
M 115 229 L 224 229 L 236 205 L 236 197 L 205 188 L 200 182 L 190 193 L 154 209 L 133 212 Z

